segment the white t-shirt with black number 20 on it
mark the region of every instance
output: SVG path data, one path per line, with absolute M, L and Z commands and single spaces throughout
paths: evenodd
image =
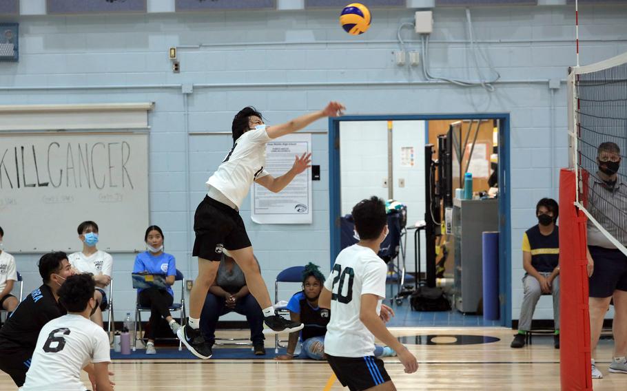
M 331 291 L 331 320 L 325 336 L 325 353 L 338 357 L 373 355 L 374 335 L 359 319 L 361 297 L 377 295 L 377 313 L 385 298 L 387 266 L 371 249 L 353 244 L 336 258 L 325 288 Z

